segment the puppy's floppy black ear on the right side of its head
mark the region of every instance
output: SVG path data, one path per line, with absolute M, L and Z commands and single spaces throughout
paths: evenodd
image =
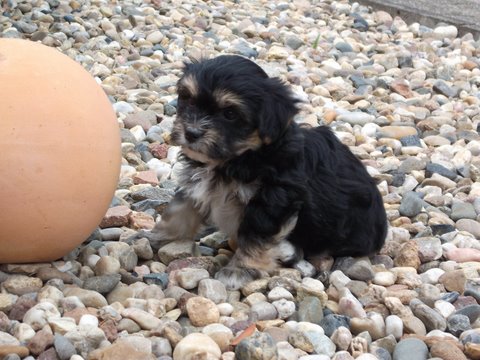
M 264 144 L 275 142 L 298 112 L 291 90 L 278 78 L 265 79 L 265 95 L 258 119 L 258 133 Z

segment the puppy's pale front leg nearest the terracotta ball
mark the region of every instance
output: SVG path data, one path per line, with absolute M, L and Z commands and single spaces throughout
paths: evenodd
M 147 238 L 154 249 L 171 241 L 193 241 L 202 221 L 193 201 L 179 191 L 163 212 L 160 222 L 151 231 L 139 231 L 135 238 Z

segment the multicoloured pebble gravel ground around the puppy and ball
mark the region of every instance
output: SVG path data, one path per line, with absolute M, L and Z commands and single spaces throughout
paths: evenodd
M 82 246 L 2 265 L 0 358 L 480 359 L 471 35 L 332 0 L 4 0 L 0 36 L 82 64 L 113 103 L 123 151 L 112 206 Z M 288 81 L 304 100 L 297 121 L 328 124 L 362 159 L 390 221 L 380 254 L 303 261 L 226 291 L 214 280 L 232 254 L 222 234 L 158 253 L 125 241 L 175 188 L 182 62 L 221 53 Z

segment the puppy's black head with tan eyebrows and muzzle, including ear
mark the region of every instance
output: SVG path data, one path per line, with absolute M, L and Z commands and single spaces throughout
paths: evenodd
M 285 84 L 240 56 L 186 64 L 177 91 L 172 140 L 203 163 L 222 163 L 274 143 L 297 112 Z

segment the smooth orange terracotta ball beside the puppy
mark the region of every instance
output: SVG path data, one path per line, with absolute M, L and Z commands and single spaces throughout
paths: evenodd
M 58 259 L 100 223 L 120 171 L 102 88 L 58 50 L 0 39 L 0 263 Z

